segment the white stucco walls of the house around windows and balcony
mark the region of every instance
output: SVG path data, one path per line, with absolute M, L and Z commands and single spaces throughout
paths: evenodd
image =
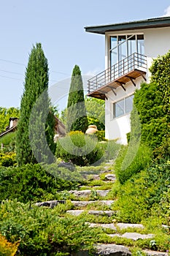
M 147 56 L 147 74 L 146 79 L 149 82 L 150 72 L 149 67 L 152 64 L 152 59 L 157 58 L 159 55 L 163 55 L 170 50 L 170 27 L 166 28 L 155 28 L 155 29 L 138 29 L 128 31 L 115 31 L 107 32 L 105 34 L 105 67 L 110 67 L 109 59 L 109 40 L 113 35 L 124 35 L 124 34 L 143 34 L 144 35 L 144 55 Z M 127 143 L 126 134 L 131 131 L 130 113 L 125 115 L 114 117 L 113 115 L 113 104 L 121 99 L 134 94 L 136 89 L 140 88 L 140 84 L 144 82 L 142 76 L 136 78 L 134 86 L 133 83 L 128 82 L 125 84 L 125 91 L 119 86 L 115 93 L 110 90 L 106 94 L 105 99 L 105 127 L 106 127 L 106 138 L 109 140 L 117 140 L 118 143 Z

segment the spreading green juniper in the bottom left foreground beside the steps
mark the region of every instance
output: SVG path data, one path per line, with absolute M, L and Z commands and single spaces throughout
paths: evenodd
M 4 202 L 0 208 L 0 233 L 8 241 L 20 241 L 21 256 L 63 256 L 92 248 L 96 231 L 82 217 L 63 217 L 62 211 L 66 211 L 66 206 L 51 209 Z

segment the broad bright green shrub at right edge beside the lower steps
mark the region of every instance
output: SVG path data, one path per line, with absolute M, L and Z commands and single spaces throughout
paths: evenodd
M 154 164 L 120 186 L 112 206 L 120 222 L 141 222 L 151 214 L 169 223 L 170 162 Z

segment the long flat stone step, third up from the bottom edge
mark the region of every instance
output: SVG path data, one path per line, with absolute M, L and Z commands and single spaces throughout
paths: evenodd
M 89 225 L 89 227 L 103 227 L 103 228 L 110 228 L 111 230 L 117 230 L 117 227 L 119 227 L 120 230 L 126 229 L 128 227 L 144 229 L 144 225 L 142 225 L 142 224 L 131 224 L 131 223 L 101 224 L 101 223 L 87 222 L 87 224 Z

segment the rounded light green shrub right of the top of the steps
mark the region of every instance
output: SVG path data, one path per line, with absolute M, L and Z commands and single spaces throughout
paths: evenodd
M 120 184 L 144 170 L 151 162 L 152 153 L 147 146 L 122 146 L 115 160 L 115 173 Z

